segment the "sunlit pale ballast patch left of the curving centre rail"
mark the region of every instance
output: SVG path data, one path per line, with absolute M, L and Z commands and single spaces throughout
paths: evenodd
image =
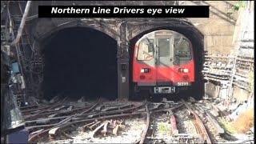
M 112 130 L 114 130 L 115 127 L 119 126 L 118 124 L 117 126 L 114 126 L 114 123 L 119 123 L 118 120 L 110 120 L 109 125 L 107 126 L 106 122 L 104 122 L 102 128 L 104 130 L 104 126 L 107 127 L 106 133 L 104 131 L 98 131 L 98 134 L 94 135 L 95 130 L 84 130 L 83 127 L 78 127 L 78 129 L 74 130 L 69 134 L 70 137 L 73 139 L 68 138 L 66 140 L 62 140 L 63 136 L 61 136 L 59 137 L 59 140 L 43 143 L 133 143 L 136 139 L 140 138 L 143 127 L 146 126 L 143 118 L 128 118 L 122 122 L 125 123 L 119 127 L 120 130 L 116 129 L 117 131 L 114 133 Z M 104 134 L 102 134 L 102 132 Z

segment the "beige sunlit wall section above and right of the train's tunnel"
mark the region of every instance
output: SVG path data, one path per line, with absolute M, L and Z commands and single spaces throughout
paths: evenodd
M 234 29 L 237 25 L 238 1 L 185 1 L 183 5 L 210 6 L 210 18 L 188 18 L 205 35 L 206 50 L 212 54 L 233 52 Z

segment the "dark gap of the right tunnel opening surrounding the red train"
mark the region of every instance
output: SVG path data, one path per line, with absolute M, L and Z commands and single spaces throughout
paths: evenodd
M 180 34 L 184 34 L 186 38 L 189 38 L 194 51 L 194 62 L 195 62 L 195 82 L 192 85 L 191 90 L 182 91 L 182 93 L 175 94 L 173 98 L 170 98 L 172 100 L 179 99 L 179 98 L 188 98 L 188 97 L 194 97 L 196 99 L 202 99 L 202 97 L 205 94 L 204 91 L 204 81 L 203 81 L 203 75 L 202 75 L 202 68 L 203 68 L 203 62 L 204 62 L 204 37 L 202 33 L 195 28 L 191 28 L 191 26 L 182 26 L 182 27 L 176 27 L 176 26 L 160 26 L 158 28 L 154 28 L 151 30 L 146 30 L 142 32 L 141 34 L 138 34 L 136 37 L 132 38 L 130 40 L 130 97 L 131 94 L 134 94 L 134 82 L 132 80 L 132 70 L 133 70 L 133 58 L 134 58 L 134 46 L 135 43 L 139 40 L 139 38 L 142 38 L 144 34 L 149 34 L 150 32 L 153 32 L 155 30 L 173 30 Z

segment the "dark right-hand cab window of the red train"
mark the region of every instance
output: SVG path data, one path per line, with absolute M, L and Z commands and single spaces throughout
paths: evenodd
M 185 38 L 175 38 L 175 56 L 180 59 L 191 59 L 190 42 Z

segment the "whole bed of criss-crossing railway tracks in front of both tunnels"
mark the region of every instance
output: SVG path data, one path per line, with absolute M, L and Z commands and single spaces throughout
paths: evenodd
M 76 141 L 79 138 L 83 141 L 78 142 L 106 142 L 103 139 L 128 137 L 130 130 L 137 130 L 131 141 L 133 143 L 213 142 L 205 123 L 184 100 L 176 103 L 145 101 L 113 104 L 99 99 L 79 107 L 62 101 L 43 106 L 43 109 L 40 106 L 22 109 L 22 114 L 27 116 L 25 123 L 30 143 Z M 38 110 L 41 111 L 34 114 Z M 181 111 L 184 114 L 178 114 Z M 186 118 L 179 118 L 178 115 Z M 194 130 L 182 130 L 181 125 L 186 124 L 186 120 L 191 122 L 190 127 Z

